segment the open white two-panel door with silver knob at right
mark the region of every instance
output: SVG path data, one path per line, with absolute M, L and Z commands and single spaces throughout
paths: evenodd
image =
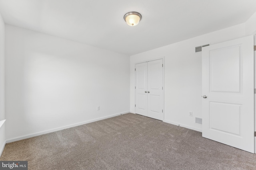
M 202 136 L 254 153 L 254 37 L 202 49 Z

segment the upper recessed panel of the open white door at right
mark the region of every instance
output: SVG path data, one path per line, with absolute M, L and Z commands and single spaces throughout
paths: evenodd
M 240 47 L 235 45 L 210 51 L 211 91 L 240 92 Z

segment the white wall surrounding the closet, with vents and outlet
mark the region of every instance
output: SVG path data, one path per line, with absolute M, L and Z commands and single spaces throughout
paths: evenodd
M 240 24 L 130 56 L 130 111 L 135 112 L 135 63 L 164 56 L 164 121 L 202 131 L 195 123 L 195 117 L 202 118 L 202 62 L 195 47 L 244 37 L 244 28 Z

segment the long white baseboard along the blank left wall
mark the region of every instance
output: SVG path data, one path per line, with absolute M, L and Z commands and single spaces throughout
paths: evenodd
M 123 112 L 123 113 L 117 113 L 117 114 L 109 115 L 109 116 L 105 116 L 105 117 L 100 117 L 98 119 L 92 119 L 92 120 L 89 120 L 89 121 L 83 121 L 83 122 L 80 122 L 80 123 L 74 123 L 74 124 L 71 124 L 71 125 L 50 129 L 50 130 L 47 130 L 47 131 L 41 131 L 41 132 L 37 132 L 37 133 L 31 133 L 31 134 L 28 134 L 28 135 L 23 135 L 23 136 L 20 136 L 20 137 L 6 139 L 6 143 L 20 141 L 22 139 L 28 139 L 30 137 L 36 137 L 36 136 L 43 135 L 43 134 L 46 134 L 46 133 L 52 133 L 52 132 L 55 132 L 55 131 L 60 131 L 60 130 L 63 130 L 63 129 L 68 129 L 70 127 L 76 127 L 76 126 L 84 125 L 84 124 L 87 124 L 87 123 L 92 123 L 94 121 L 99 121 L 99 120 L 107 119 L 107 118 L 110 118 L 110 117 L 115 117 L 115 116 L 118 116 L 118 115 L 123 115 L 123 114 L 126 114 L 126 113 L 130 113 L 130 111 L 126 111 L 126 112 Z

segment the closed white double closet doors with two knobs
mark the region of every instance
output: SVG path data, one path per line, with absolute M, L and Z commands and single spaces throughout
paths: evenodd
M 136 64 L 135 68 L 135 112 L 163 120 L 163 60 Z

